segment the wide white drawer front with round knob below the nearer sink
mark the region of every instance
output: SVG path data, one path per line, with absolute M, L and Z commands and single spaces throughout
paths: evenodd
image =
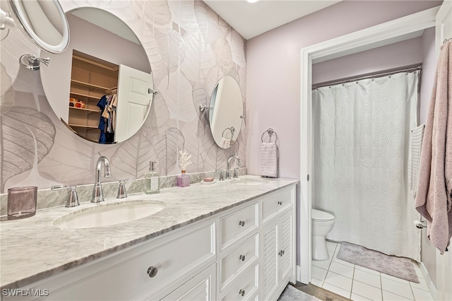
M 152 242 L 147 245 L 151 247 Z M 72 274 L 63 287 L 50 290 L 47 299 L 73 300 L 77 296 L 77 300 L 132 300 L 155 295 L 196 268 L 215 261 L 215 222 L 154 249 L 124 256 L 123 253 L 105 259 L 101 264 L 103 271 L 85 273 L 80 281 L 74 281 Z

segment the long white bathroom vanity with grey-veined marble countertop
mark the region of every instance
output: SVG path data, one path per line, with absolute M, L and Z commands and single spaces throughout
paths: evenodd
M 245 176 L 136 194 L 125 202 L 165 208 L 104 227 L 54 225 L 92 203 L 3 221 L 3 299 L 22 288 L 38 295 L 23 300 L 277 300 L 296 281 L 297 182 Z

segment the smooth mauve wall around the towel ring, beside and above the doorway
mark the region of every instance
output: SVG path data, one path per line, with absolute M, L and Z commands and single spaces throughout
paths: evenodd
M 300 52 L 303 47 L 439 6 L 441 1 L 341 1 L 246 44 L 248 172 L 258 174 L 261 134 L 280 140 L 280 177 L 299 178 Z

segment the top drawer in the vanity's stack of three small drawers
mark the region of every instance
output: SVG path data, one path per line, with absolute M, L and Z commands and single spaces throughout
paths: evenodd
M 221 251 L 257 228 L 258 203 L 220 218 Z

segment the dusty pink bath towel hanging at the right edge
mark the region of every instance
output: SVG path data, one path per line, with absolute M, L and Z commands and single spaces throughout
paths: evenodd
M 452 41 L 441 46 L 425 123 L 416 209 L 441 254 L 452 236 Z

